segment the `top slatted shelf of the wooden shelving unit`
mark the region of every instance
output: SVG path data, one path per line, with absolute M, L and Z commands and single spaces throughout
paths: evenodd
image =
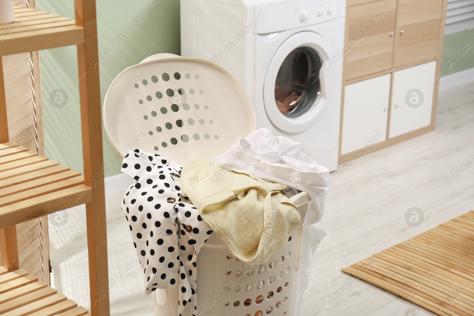
M 0 34 L 0 56 L 84 43 L 84 28 L 73 19 L 19 5 Z

